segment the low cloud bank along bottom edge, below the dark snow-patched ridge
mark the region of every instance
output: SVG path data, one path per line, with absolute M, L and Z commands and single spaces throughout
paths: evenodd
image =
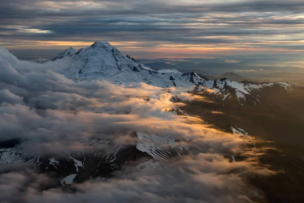
M 30 168 L 0 175 L 2 200 L 9 202 L 260 202 L 263 197 L 244 178 L 254 163 L 231 163 L 218 154 L 199 153 L 169 160 L 166 168 L 132 165 L 117 178 L 56 187 Z M 19 171 L 18 171 L 19 170 Z M 270 175 L 270 174 L 268 174 Z M 254 198 L 255 200 L 251 200 Z

